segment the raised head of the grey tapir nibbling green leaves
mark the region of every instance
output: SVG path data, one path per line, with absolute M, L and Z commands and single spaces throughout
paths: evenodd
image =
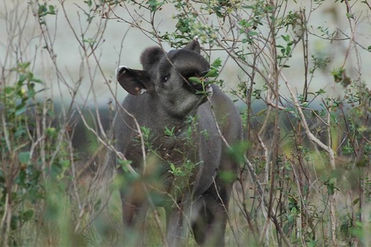
M 183 47 L 164 52 L 160 47 L 143 51 L 140 61 L 143 70 L 120 66 L 116 69 L 117 81 L 132 95 L 148 93 L 158 99 L 160 107 L 172 117 L 182 118 L 205 102 L 202 91 L 211 92 L 207 83 L 197 83 L 190 78 L 200 78 L 210 70 L 210 64 L 200 54 L 197 40 Z

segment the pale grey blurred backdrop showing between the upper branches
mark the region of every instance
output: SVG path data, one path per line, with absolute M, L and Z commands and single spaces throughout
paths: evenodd
M 140 20 L 139 16 L 148 19 L 150 14 L 144 8 L 138 8 L 137 5 L 127 3 L 125 7 L 115 6 L 107 19 L 96 18 L 101 13 L 89 12 L 87 4 L 82 1 L 38 1 L 55 5 L 55 15 L 45 16 L 47 27 L 47 39 L 50 45 L 53 45 L 55 58 L 51 58 L 45 50 L 44 38 L 41 35 L 41 26 L 38 25 L 38 19 L 35 16 L 37 12 L 36 1 L 22 0 L 3 0 L 0 3 L 0 62 L 5 69 L 3 76 L 7 71 L 14 67 L 16 59 L 32 61 L 32 71 L 37 78 L 42 78 L 49 85 L 46 94 L 53 95 L 56 100 L 61 100 L 68 104 L 71 100 L 69 87 L 78 86 L 76 97 L 77 102 L 85 104 L 92 103 L 95 98 L 100 106 L 107 104 L 110 99 L 117 97 L 121 101 L 126 92 L 117 89 L 114 78 L 115 68 L 118 65 L 126 65 L 135 69 L 140 69 L 139 56 L 141 52 L 149 46 L 157 45 L 158 40 L 146 32 L 132 25 L 133 22 Z M 63 8 L 60 5 L 63 3 Z M 287 8 L 289 10 L 314 9 L 319 8 L 315 1 L 289 1 Z M 359 57 L 350 50 L 346 62 L 346 72 L 348 76 L 363 75 L 363 78 L 371 77 L 371 59 L 367 47 L 371 44 L 370 22 L 368 20 L 368 11 L 361 4 L 355 4 L 352 11 L 357 18 L 357 28 L 354 34 L 350 30 L 348 19 L 343 18 L 346 12 L 346 5 L 340 1 L 324 1 L 320 8 L 307 16 L 310 20 L 309 31 L 322 36 L 309 36 L 309 54 L 317 54 L 324 58 L 329 58 L 330 63 L 324 68 L 323 73 L 317 73 L 311 84 L 312 91 L 326 87 L 332 81 L 330 72 L 341 66 L 344 62 L 344 56 L 348 49 L 348 42 L 344 41 L 346 36 L 353 37 L 359 45 L 366 49 L 357 48 Z M 88 14 L 89 13 L 89 14 Z M 174 19 L 176 12 L 171 4 L 165 4 L 155 16 L 155 26 L 159 32 L 175 32 L 177 30 L 177 20 Z M 95 16 L 87 25 L 89 15 Z M 116 16 L 120 17 L 117 18 Z M 210 17 L 212 18 L 212 17 Z M 213 21 L 213 20 L 212 20 Z M 210 21 L 212 23 L 212 21 Z M 215 20 L 216 21 L 216 20 Z M 128 23 L 131 22 L 131 23 Z M 15 25 L 21 25 L 12 28 Z M 141 23 L 142 27 L 150 30 L 148 23 Z M 264 29 L 264 27 L 262 27 Z M 24 32 L 20 33 L 19 30 Z M 319 32 L 321 31 L 321 32 Z M 322 32 L 323 31 L 323 32 Z M 333 35 L 333 39 L 326 38 L 325 33 Z M 84 33 L 82 37 L 82 33 Z M 335 33 L 335 34 L 334 34 Z M 95 56 L 85 58 L 84 51 L 80 43 L 87 45 L 89 38 L 102 35 L 98 47 L 95 47 Z M 83 41 L 85 39 L 85 41 Z M 337 40 L 339 39 L 339 40 Z M 20 44 L 16 48 L 15 44 Z M 164 49 L 172 49 L 168 43 L 163 43 Z M 203 44 L 207 49 L 207 44 Z M 302 91 L 304 64 L 302 61 L 302 46 L 293 50 L 292 58 L 288 65 L 291 67 L 286 71 L 286 77 L 295 86 L 298 91 Z M 236 66 L 232 59 L 227 59 L 228 54 L 225 51 L 212 51 L 211 59 L 221 58 L 227 62 L 221 79 L 225 80 L 226 89 L 235 89 L 236 84 L 246 75 Z M 58 64 L 58 73 L 65 76 L 65 82 L 60 83 L 60 78 L 56 75 L 54 62 Z M 361 62 L 360 71 L 355 71 L 357 63 Z M 89 63 L 89 65 L 87 64 Z M 5 74 L 4 74 L 5 73 Z M 256 83 L 260 83 L 256 81 Z M 371 83 L 371 82 L 366 82 Z M 111 91 L 107 84 L 111 86 Z M 282 87 L 282 94 L 286 90 Z M 339 87 L 336 93 L 344 93 Z

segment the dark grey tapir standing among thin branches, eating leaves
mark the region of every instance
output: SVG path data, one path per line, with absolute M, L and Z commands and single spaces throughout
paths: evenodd
M 236 172 L 238 164 L 227 155 L 210 104 L 203 95 L 196 94 L 196 85 L 184 80 L 210 70 L 210 64 L 201 56 L 197 40 L 167 54 L 159 47 L 148 48 L 140 61 L 142 71 L 127 67 L 119 67 L 116 71 L 118 82 L 130 93 L 117 110 L 113 123 L 117 151 L 133 161 L 133 168 L 142 174 L 142 148 L 138 141 L 134 141 L 137 128 L 133 117 L 139 126 L 150 128 L 150 143 L 161 158 L 155 160 L 155 167 L 147 164 L 150 166 L 148 170 L 160 174 L 160 187 L 172 194 L 178 204 L 175 206 L 170 197 L 162 195 L 169 246 L 185 244 L 183 237 L 188 229 L 188 220 L 197 244 L 223 246 L 226 209 L 233 181 L 225 181 L 218 174 Z M 218 86 L 212 85 L 209 90 L 212 91 L 211 103 L 223 136 L 230 145 L 240 141 L 242 126 L 238 110 Z M 184 139 L 190 125 L 186 124 L 188 116 L 196 117 L 196 131 L 192 132 L 190 141 L 192 145 Z M 175 137 L 164 135 L 166 127 L 175 127 Z M 201 134 L 205 132 L 207 134 Z M 177 180 L 169 172 L 169 163 L 181 167 L 186 160 L 199 165 L 188 188 L 183 193 L 174 193 Z M 124 174 L 121 170 L 119 172 Z M 121 197 L 124 227 L 129 229 L 142 224 L 139 222 L 144 221 L 148 209 L 144 190 L 138 192 L 138 189 L 123 188 Z M 188 220 L 184 220 L 185 217 Z

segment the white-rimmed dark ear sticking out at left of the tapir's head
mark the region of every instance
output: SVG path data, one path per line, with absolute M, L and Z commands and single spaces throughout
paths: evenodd
M 120 85 L 132 95 L 151 93 L 154 90 L 150 75 L 146 71 L 120 66 L 116 69 L 116 78 Z

